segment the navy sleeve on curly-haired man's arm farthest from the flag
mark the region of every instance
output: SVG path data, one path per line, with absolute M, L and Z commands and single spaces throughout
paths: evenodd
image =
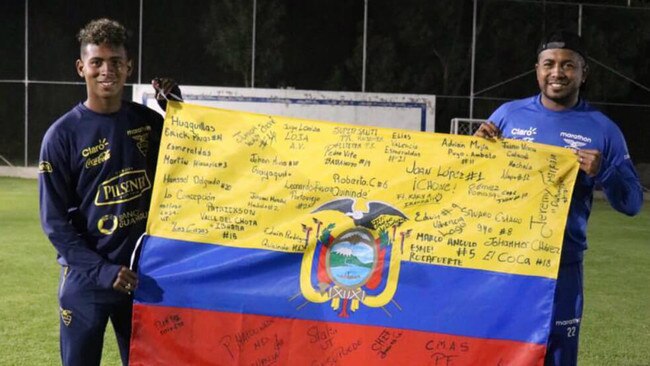
M 71 171 L 71 154 L 67 144 L 52 138 L 49 131 L 43 139 L 39 164 L 39 205 L 43 231 L 56 248 L 63 262 L 92 283 L 112 288 L 121 266 L 113 264 L 93 251 L 83 239 L 81 225 L 73 224 L 79 199 L 77 182 Z M 85 227 L 85 223 L 84 223 Z

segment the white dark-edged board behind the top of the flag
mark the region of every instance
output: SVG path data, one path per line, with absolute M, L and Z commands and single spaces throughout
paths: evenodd
M 192 85 L 180 88 L 186 102 L 209 107 L 415 131 L 436 130 L 435 95 Z M 151 85 L 134 85 L 133 101 L 162 113 Z

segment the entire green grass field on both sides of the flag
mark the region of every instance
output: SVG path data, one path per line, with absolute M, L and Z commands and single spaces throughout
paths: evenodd
M 36 181 L 0 177 L 0 365 L 59 364 L 55 251 Z M 650 207 L 626 217 L 595 202 L 585 261 L 580 365 L 650 365 Z M 119 365 L 112 330 L 104 365 Z

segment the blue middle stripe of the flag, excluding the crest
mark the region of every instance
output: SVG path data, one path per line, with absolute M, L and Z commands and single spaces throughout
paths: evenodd
M 546 343 L 555 280 L 403 262 L 393 301 L 383 308 L 361 303 L 342 318 L 330 302 L 301 295 L 301 260 L 301 253 L 150 236 L 136 302 Z

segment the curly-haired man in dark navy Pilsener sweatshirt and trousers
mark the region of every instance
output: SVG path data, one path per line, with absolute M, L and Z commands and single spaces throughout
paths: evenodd
M 76 69 L 85 79 L 87 99 L 43 138 L 41 224 L 62 266 L 62 363 L 99 365 L 110 319 L 126 365 L 131 292 L 138 284 L 128 266 L 145 229 L 163 120 L 147 107 L 122 100 L 132 64 L 121 24 L 95 20 L 78 38 Z M 154 88 L 157 96 L 172 88 L 179 94 L 170 79 L 156 79 Z

